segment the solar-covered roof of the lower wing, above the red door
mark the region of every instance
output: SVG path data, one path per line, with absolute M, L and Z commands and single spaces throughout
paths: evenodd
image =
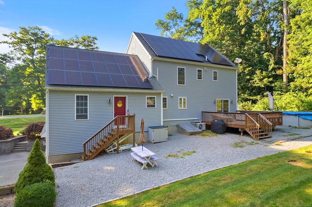
M 48 84 L 153 88 L 137 56 L 47 46 Z

